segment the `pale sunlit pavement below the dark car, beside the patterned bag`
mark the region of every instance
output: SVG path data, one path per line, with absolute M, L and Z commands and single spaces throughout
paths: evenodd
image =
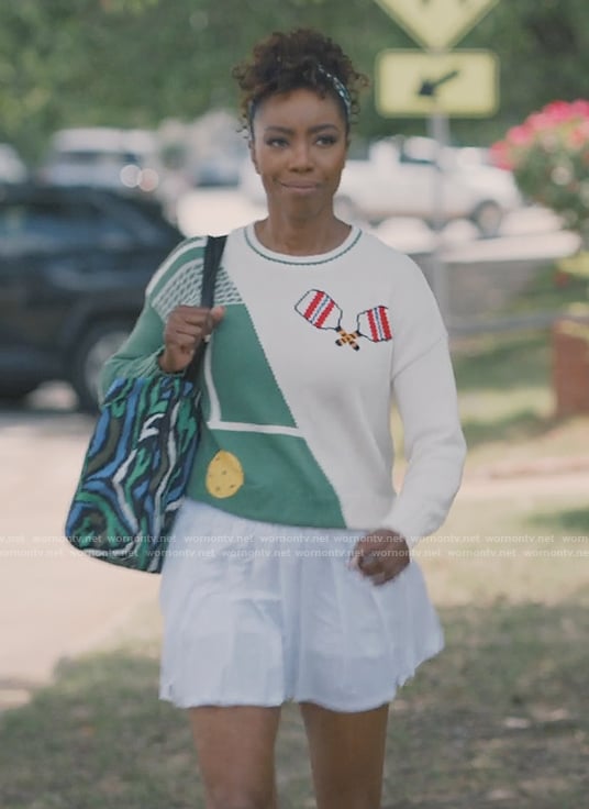
M 66 389 L 52 395 L 67 407 Z M 157 577 L 87 558 L 63 538 L 90 425 L 67 409 L 0 413 L 0 708 L 157 598 Z

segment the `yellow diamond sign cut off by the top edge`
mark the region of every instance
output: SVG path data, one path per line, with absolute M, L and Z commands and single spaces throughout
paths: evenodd
M 424 47 L 454 45 L 499 0 L 376 0 Z

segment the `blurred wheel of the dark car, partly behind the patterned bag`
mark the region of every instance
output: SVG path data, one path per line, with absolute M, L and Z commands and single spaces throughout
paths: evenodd
M 98 386 L 107 359 L 124 343 L 132 325 L 125 321 L 108 321 L 95 325 L 81 341 L 71 373 L 71 385 L 80 410 L 98 410 Z

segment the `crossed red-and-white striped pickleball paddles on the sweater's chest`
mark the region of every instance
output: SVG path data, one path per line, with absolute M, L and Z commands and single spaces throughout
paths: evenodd
M 392 340 L 389 310 L 387 307 L 378 306 L 359 312 L 356 317 L 356 329 L 346 332 L 342 329 L 343 312 L 333 298 L 321 289 L 310 289 L 294 304 L 297 312 L 311 323 L 315 329 L 326 329 L 337 332 L 335 345 L 349 345 L 354 351 L 359 351 L 359 337 L 365 337 L 371 343 L 382 343 Z

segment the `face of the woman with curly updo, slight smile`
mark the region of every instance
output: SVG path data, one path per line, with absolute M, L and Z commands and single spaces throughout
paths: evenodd
M 333 211 L 347 146 L 346 122 L 331 96 L 301 88 L 264 100 L 251 153 L 270 213 L 309 219 Z

